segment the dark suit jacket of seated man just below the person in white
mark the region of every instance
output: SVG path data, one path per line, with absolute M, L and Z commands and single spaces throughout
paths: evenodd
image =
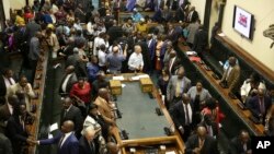
M 271 107 L 271 98 L 269 96 L 264 96 L 264 115 L 263 117 L 265 117 L 269 108 Z M 259 103 L 259 96 L 254 96 L 252 97 L 249 103 L 248 103 L 248 107 L 250 109 L 250 111 L 255 116 L 259 117 L 259 115 L 261 114 L 260 110 L 260 103 Z

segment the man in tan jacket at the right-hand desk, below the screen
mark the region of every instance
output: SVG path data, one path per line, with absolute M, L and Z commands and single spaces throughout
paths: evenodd
M 222 74 L 220 85 L 229 88 L 229 93 L 236 92 L 237 84 L 240 80 L 240 67 L 237 64 L 235 57 L 229 57 L 229 68 Z

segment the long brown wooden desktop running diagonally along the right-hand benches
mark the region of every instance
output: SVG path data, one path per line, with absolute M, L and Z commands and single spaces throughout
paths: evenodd
M 179 42 L 178 46 L 181 51 L 186 56 L 185 51 L 191 50 L 189 46 L 184 46 L 183 40 Z M 250 128 L 250 130 L 253 132 L 255 135 L 263 135 L 264 134 L 264 126 L 263 125 L 255 125 L 253 123 L 249 117 L 251 116 L 250 110 L 241 110 L 238 107 L 238 103 L 240 102 L 239 99 L 232 99 L 228 96 L 228 88 L 222 88 L 219 85 L 219 81 L 216 81 L 212 74 L 214 73 L 213 71 L 207 71 L 204 68 L 202 68 L 201 64 L 197 64 L 193 62 L 193 66 L 205 76 L 205 79 L 213 85 L 213 87 L 218 92 L 218 94 L 228 103 L 230 108 L 238 115 L 238 117 L 244 122 L 244 125 Z M 227 118 L 229 118 L 229 115 L 227 115 Z M 236 123 L 237 125 L 237 123 Z M 228 126 L 230 127 L 230 126 Z M 231 126 L 232 127 L 232 126 Z

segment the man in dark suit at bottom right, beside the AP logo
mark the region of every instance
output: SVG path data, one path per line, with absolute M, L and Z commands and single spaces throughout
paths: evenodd
M 252 154 L 249 132 L 242 130 L 240 134 L 231 140 L 231 154 Z

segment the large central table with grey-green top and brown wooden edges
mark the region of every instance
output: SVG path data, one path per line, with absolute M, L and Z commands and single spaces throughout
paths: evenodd
M 165 145 L 169 151 L 174 150 L 176 153 L 183 153 L 184 143 L 179 132 L 175 130 L 174 134 L 169 137 L 164 134 L 162 126 L 174 125 L 158 90 L 153 86 L 152 95 L 155 98 L 149 98 L 147 93 L 141 92 L 139 80 L 132 81 L 134 74 L 125 73 L 121 75 L 124 76 L 122 84 L 125 84 L 122 95 L 117 96 L 117 107 L 122 112 L 122 118 L 116 119 L 117 127 L 113 129 L 113 133 L 118 144 L 123 145 L 122 153 L 129 153 L 129 149 L 135 147 L 136 152 L 141 154 L 148 147 L 159 150 L 160 145 Z M 111 75 L 107 75 L 107 78 L 111 78 Z M 125 106 L 129 106 L 129 108 Z M 157 116 L 155 107 L 159 107 L 163 116 Z M 129 133 L 129 140 L 121 139 L 119 131 L 122 129 Z

